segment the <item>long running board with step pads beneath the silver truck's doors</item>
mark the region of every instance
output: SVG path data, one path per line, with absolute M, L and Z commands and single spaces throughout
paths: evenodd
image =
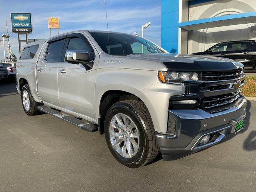
M 52 116 L 55 116 L 59 119 L 62 119 L 66 122 L 69 122 L 75 126 L 78 126 L 80 127 L 82 130 L 85 130 L 85 131 L 88 131 L 88 132 L 96 132 L 98 131 L 98 127 L 94 124 L 91 124 L 91 123 L 86 123 L 86 122 L 83 122 L 79 119 L 76 119 L 74 117 L 70 117 L 69 115 L 67 114 L 64 114 L 58 110 L 54 110 L 52 108 L 49 108 L 49 107 L 46 107 L 46 106 L 38 106 L 37 107 L 38 110 L 42 111 L 42 112 L 45 112 L 45 113 L 48 113 Z

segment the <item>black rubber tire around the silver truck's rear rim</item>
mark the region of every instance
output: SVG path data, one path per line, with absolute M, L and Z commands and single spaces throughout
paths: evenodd
M 24 104 L 23 104 L 23 92 L 26 91 L 28 93 L 28 98 L 29 98 L 29 108 L 28 110 L 26 110 Z M 30 88 L 29 88 L 29 85 L 26 84 L 22 87 L 21 89 L 21 103 L 22 103 L 22 107 L 24 109 L 24 112 L 27 114 L 27 115 L 37 115 L 39 113 L 39 110 L 37 109 L 37 106 L 40 106 L 42 105 L 42 103 L 38 103 L 34 100 L 31 92 L 30 92 Z

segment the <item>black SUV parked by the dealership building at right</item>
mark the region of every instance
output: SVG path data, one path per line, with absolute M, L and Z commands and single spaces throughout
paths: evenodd
M 204 52 L 194 55 L 225 57 L 241 62 L 245 68 L 256 69 L 256 41 L 229 41 L 218 43 Z

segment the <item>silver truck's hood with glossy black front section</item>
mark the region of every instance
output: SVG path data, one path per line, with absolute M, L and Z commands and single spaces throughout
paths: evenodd
M 172 71 L 230 71 L 244 66 L 228 58 L 182 54 L 131 54 L 128 57 L 162 62 Z

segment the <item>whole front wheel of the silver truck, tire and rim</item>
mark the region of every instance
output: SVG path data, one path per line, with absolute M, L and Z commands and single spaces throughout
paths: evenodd
M 126 100 L 112 105 L 104 132 L 110 152 L 125 166 L 138 168 L 158 155 L 154 126 L 143 102 Z

